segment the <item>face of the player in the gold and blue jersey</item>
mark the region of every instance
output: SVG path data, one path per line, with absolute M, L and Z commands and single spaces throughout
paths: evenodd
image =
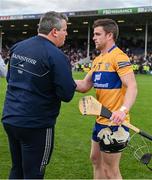
M 94 28 L 93 40 L 95 42 L 96 49 L 103 50 L 106 47 L 108 34 L 103 30 L 102 26 Z

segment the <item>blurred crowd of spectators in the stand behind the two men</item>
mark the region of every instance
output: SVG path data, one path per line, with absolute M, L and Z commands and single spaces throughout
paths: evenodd
M 144 56 L 144 50 L 142 48 L 135 48 L 132 43 L 127 44 L 124 46 L 124 41 L 119 43 L 122 45 L 122 50 L 127 53 L 130 58 L 130 62 L 132 63 L 133 70 L 135 74 L 152 74 L 152 51 L 149 51 L 147 56 Z M 127 42 L 127 41 L 125 41 Z M 139 42 L 138 42 L 139 43 Z M 140 42 L 141 44 L 141 42 Z M 129 48 L 128 46 L 130 45 Z M 135 44 L 136 45 L 136 44 Z M 126 47 L 126 48 L 125 48 Z M 83 59 L 87 57 L 87 47 L 78 47 L 78 46 L 71 46 L 66 44 L 62 47 L 63 52 L 69 57 L 72 69 L 75 71 L 88 71 L 91 68 L 91 63 L 94 58 L 99 55 L 100 52 L 93 49 L 90 53 L 90 62 L 83 63 Z M 1 52 L 2 58 L 5 64 L 9 61 L 9 47 L 5 46 Z M 81 61 L 81 63 L 79 63 Z

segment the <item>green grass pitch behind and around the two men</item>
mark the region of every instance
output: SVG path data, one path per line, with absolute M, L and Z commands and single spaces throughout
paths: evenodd
M 75 79 L 84 73 L 74 73 Z M 138 96 L 131 110 L 132 124 L 152 134 L 152 76 L 137 75 Z M 0 79 L 0 113 L 2 112 L 6 83 Z M 94 94 L 91 90 L 87 94 Z M 78 110 L 78 101 L 84 94 L 75 93 L 70 103 L 62 103 L 55 130 L 55 148 L 47 166 L 45 178 L 49 179 L 91 179 L 92 166 L 89 159 L 90 139 L 94 117 L 83 117 Z M 1 114 L 0 114 L 1 115 Z M 150 146 L 152 146 L 150 144 Z M 152 151 L 151 151 L 152 152 Z M 7 137 L 0 125 L 0 179 L 8 177 L 11 167 Z M 127 148 L 121 159 L 124 179 L 152 179 L 152 173 L 140 164 Z

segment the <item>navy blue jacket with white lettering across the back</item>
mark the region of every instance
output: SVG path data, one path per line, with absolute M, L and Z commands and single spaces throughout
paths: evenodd
M 54 125 L 61 101 L 69 102 L 76 88 L 68 58 L 41 36 L 11 48 L 7 81 L 2 121 L 27 128 Z

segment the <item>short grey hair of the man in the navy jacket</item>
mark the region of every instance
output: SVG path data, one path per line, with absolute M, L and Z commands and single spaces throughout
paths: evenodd
M 45 13 L 40 19 L 38 33 L 48 35 L 53 28 L 60 30 L 62 28 L 62 20 L 67 22 L 68 17 L 65 14 L 53 11 Z

